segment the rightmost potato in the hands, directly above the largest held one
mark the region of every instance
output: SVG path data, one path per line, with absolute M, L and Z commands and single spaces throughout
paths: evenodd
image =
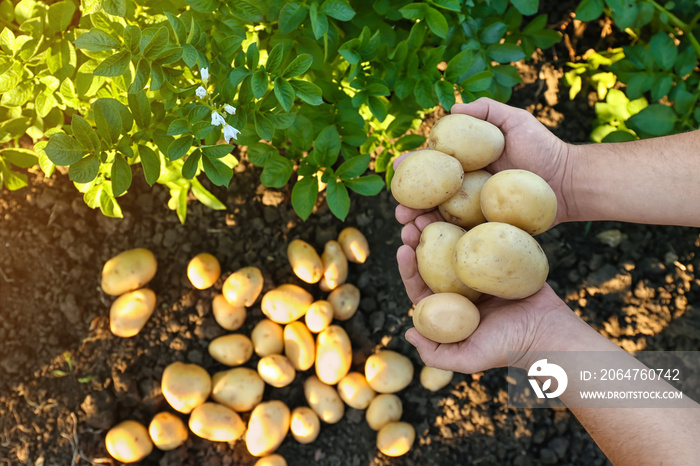
M 547 231 L 557 216 L 557 195 L 527 170 L 503 170 L 481 188 L 481 210 L 489 222 L 509 223 L 531 235 Z

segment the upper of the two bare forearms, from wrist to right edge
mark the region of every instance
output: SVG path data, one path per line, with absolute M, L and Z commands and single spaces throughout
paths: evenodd
M 700 227 L 700 131 L 572 145 L 563 176 L 569 221 Z

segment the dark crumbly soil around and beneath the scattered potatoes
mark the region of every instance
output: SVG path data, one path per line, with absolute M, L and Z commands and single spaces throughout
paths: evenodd
M 572 53 L 600 45 L 604 25 L 591 25 L 583 40 L 570 11 L 551 3 L 550 19 L 560 19 L 567 41 L 522 67 L 525 82 L 510 103 L 533 112 L 559 137 L 586 142 L 591 106 L 585 94 L 569 101 L 558 78 Z M 301 238 L 320 250 L 346 225 L 363 231 L 372 251 L 365 264 L 352 264 L 348 280 L 362 293 L 358 313 L 341 324 L 353 343 L 353 369 L 362 370 L 377 348 L 412 360 L 416 375 L 399 396 L 416 441 L 408 454 L 386 457 L 377 451 L 364 413 L 348 409 L 337 424 L 324 424 L 314 443 L 288 436 L 278 450 L 288 464 L 608 464 L 569 411 L 509 408 L 505 369 L 456 374 L 436 393 L 421 387 L 422 363 L 403 338 L 411 304 L 396 267 L 400 226 L 387 192 L 353 196 L 345 223 L 325 203 L 302 222 L 290 207 L 289 189 L 264 188 L 259 170 L 245 160 L 236 172 L 228 189 L 213 189 L 227 210 L 192 201 L 185 225 L 167 208 L 167 191 L 149 189 L 138 174 L 121 199 L 121 220 L 85 206 L 67 176 L 46 179 L 30 171 L 30 187 L 0 194 L 0 464 L 116 464 L 104 447 L 107 430 L 125 419 L 147 424 L 168 409 L 160 393 L 166 365 L 188 361 L 210 372 L 223 369 L 207 344 L 226 333 L 211 312 L 226 276 L 255 265 L 263 271 L 264 291 L 304 285 L 290 270 L 286 244 Z M 700 308 L 693 306 L 700 298 L 698 230 L 598 222 L 559 225 L 537 239 L 550 261 L 549 283 L 599 332 L 630 351 L 700 348 Z M 157 256 L 158 273 L 149 286 L 158 305 L 139 335 L 122 339 L 109 331 L 112 298 L 101 292 L 99 277 L 107 259 L 134 247 Z M 199 291 L 185 268 L 204 251 L 219 259 L 224 273 L 212 289 Z M 240 331 L 261 318 L 258 302 Z M 307 375 L 298 374 L 286 388 L 268 387 L 265 398 L 305 404 L 301 381 Z M 217 444 L 191 435 L 182 447 L 156 450 L 142 464 L 254 462 L 242 441 Z

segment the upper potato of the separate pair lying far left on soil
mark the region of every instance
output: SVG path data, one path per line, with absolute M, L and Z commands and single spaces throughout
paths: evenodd
M 102 291 L 119 296 L 142 288 L 156 275 L 158 262 L 151 251 L 128 249 L 105 262 L 102 267 Z

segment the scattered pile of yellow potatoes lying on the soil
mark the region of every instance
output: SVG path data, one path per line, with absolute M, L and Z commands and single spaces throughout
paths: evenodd
M 115 259 L 125 263 L 124 257 L 140 254 L 145 253 L 126 251 Z M 368 255 L 366 238 L 352 227 L 345 228 L 337 241 L 329 241 L 320 255 L 303 240 L 291 241 L 287 257 L 292 270 L 304 282 L 318 284 L 328 293 L 321 300 L 314 300 L 305 288 L 290 283 L 263 294 L 263 274 L 257 267 L 244 267 L 230 274 L 221 294 L 212 300 L 212 312 L 216 322 L 232 333 L 213 339 L 208 347 L 212 358 L 228 368 L 210 374 L 196 364 L 168 365 L 163 371 L 161 391 L 173 410 L 189 416 L 187 425 L 180 415 L 169 411 L 156 414 L 148 427 L 134 420 L 124 421 L 108 432 L 108 452 L 121 462 L 136 462 L 149 455 L 154 445 L 161 450 L 179 447 L 192 432 L 215 442 L 243 439 L 248 451 L 261 458 L 256 464 L 286 464 L 274 452 L 288 433 L 299 443 L 313 442 L 322 423 L 342 419 L 346 405 L 366 410 L 367 423 L 377 431 L 381 452 L 389 456 L 408 452 L 415 430 L 401 422 L 402 403 L 396 393 L 413 379 L 411 361 L 394 351 L 382 350 L 367 359 L 364 373 L 351 371 L 352 344 L 338 324 L 350 319 L 360 303 L 360 290 L 346 283 L 348 262 L 364 263 Z M 129 280 L 140 283 L 145 274 L 143 264 L 132 261 L 119 269 L 118 277 L 133 277 Z M 151 265 L 148 270 L 155 271 Z M 105 266 L 107 276 L 114 275 L 115 269 L 110 266 L 107 270 Z M 187 276 L 198 289 L 213 286 L 220 275 L 218 260 L 206 253 L 194 257 L 187 267 Z M 103 276 L 103 283 L 107 282 Z M 235 333 L 243 326 L 248 309 L 258 302 L 264 318 L 250 335 Z M 133 334 L 143 327 L 150 312 L 141 315 L 140 326 Z M 122 325 L 113 323 L 112 328 Z M 255 368 L 247 367 L 254 355 Z M 311 370 L 313 373 L 305 374 L 303 382 L 308 406 L 290 408 L 280 400 L 263 401 L 268 385 L 285 387 L 294 382 L 297 373 Z M 448 371 L 423 368 L 421 372 L 421 383 L 429 390 L 439 390 L 451 379 Z

